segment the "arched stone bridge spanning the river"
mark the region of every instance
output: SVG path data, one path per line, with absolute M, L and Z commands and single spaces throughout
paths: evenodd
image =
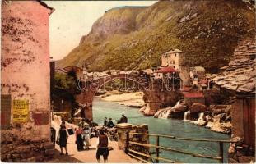
M 99 89 L 104 89 L 105 84 L 116 79 L 123 80 L 125 90 L 133 90 L 133 87 L 137 85 L 138 89 L 145 95 L 144 101 L 147 103 L 149 109 L 147 112 L 148 115 L 153 115 L 165 102 L 175 104 L 176 101 L 178 101 L 175 99 L 175 95 L 179 90 L 171 90 L 174 89 L 174 86 L 170 86 L 170 84 L 166 83 L 166 80 L 152 80 L 151 76 L 147 74 L 134 72 L 129 74 L 128 71 L 120 71 L 115 74 L 77 80 L 77 88 L 81 90 L 81 93 L 76 95 L 76 99 L 78 103 L 83 104 L 81 117 L 86 117 L 92 120 L 92 102 L 95 93 L 97 93 Z M 132 86 L 129 85 L 131 82 L 133 83 Z M 176 83 L 176 85 L 178 83 Z M 168 89 L 168 86 L 170 86 L 171 89 Z M 175 86 L 175 89 L 177 89 L 177 86 Z

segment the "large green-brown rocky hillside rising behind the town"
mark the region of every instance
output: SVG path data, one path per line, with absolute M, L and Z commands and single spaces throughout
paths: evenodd
M 151 7 L 106 11 L 58 67 L 89 64 L 91 71 L 145 69 L 170 48 L 186 65 L 208 71 L 225 66 L 239 39 L 255 35 L 255 10 L 241 1 L 161 1 Z

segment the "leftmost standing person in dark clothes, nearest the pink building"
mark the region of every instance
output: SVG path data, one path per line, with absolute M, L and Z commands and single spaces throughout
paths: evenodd
M 67 138 L 68 138 L 68 134 L 67 134 L 66 126 L 61 124 L 60 129 L 58 131 L 58 136 L 57 136 L 57 140 L 58 140 L 60 152 L 61 152 L 60 155 L 64 154 L 63 148 L 65 148 L 66 155 L 68 155 L 68 153 L 67 153 Z

